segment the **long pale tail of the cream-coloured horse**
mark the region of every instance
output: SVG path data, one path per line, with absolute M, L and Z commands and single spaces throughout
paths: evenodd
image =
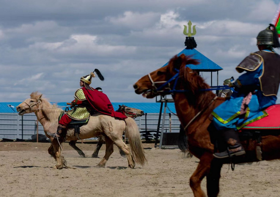
M 125 135 L 127 136 L 128 142 L 130 144 L 132 157 L 137 164 L 143 166 L 145 165 L 145 162 L 147 162 L 147 159 L 145 157 L 145 152 L 141 141 L 141 135 L 138 130 L 137 124 L 130 117 L 126 118 L 124 121 L 126 123 Z

